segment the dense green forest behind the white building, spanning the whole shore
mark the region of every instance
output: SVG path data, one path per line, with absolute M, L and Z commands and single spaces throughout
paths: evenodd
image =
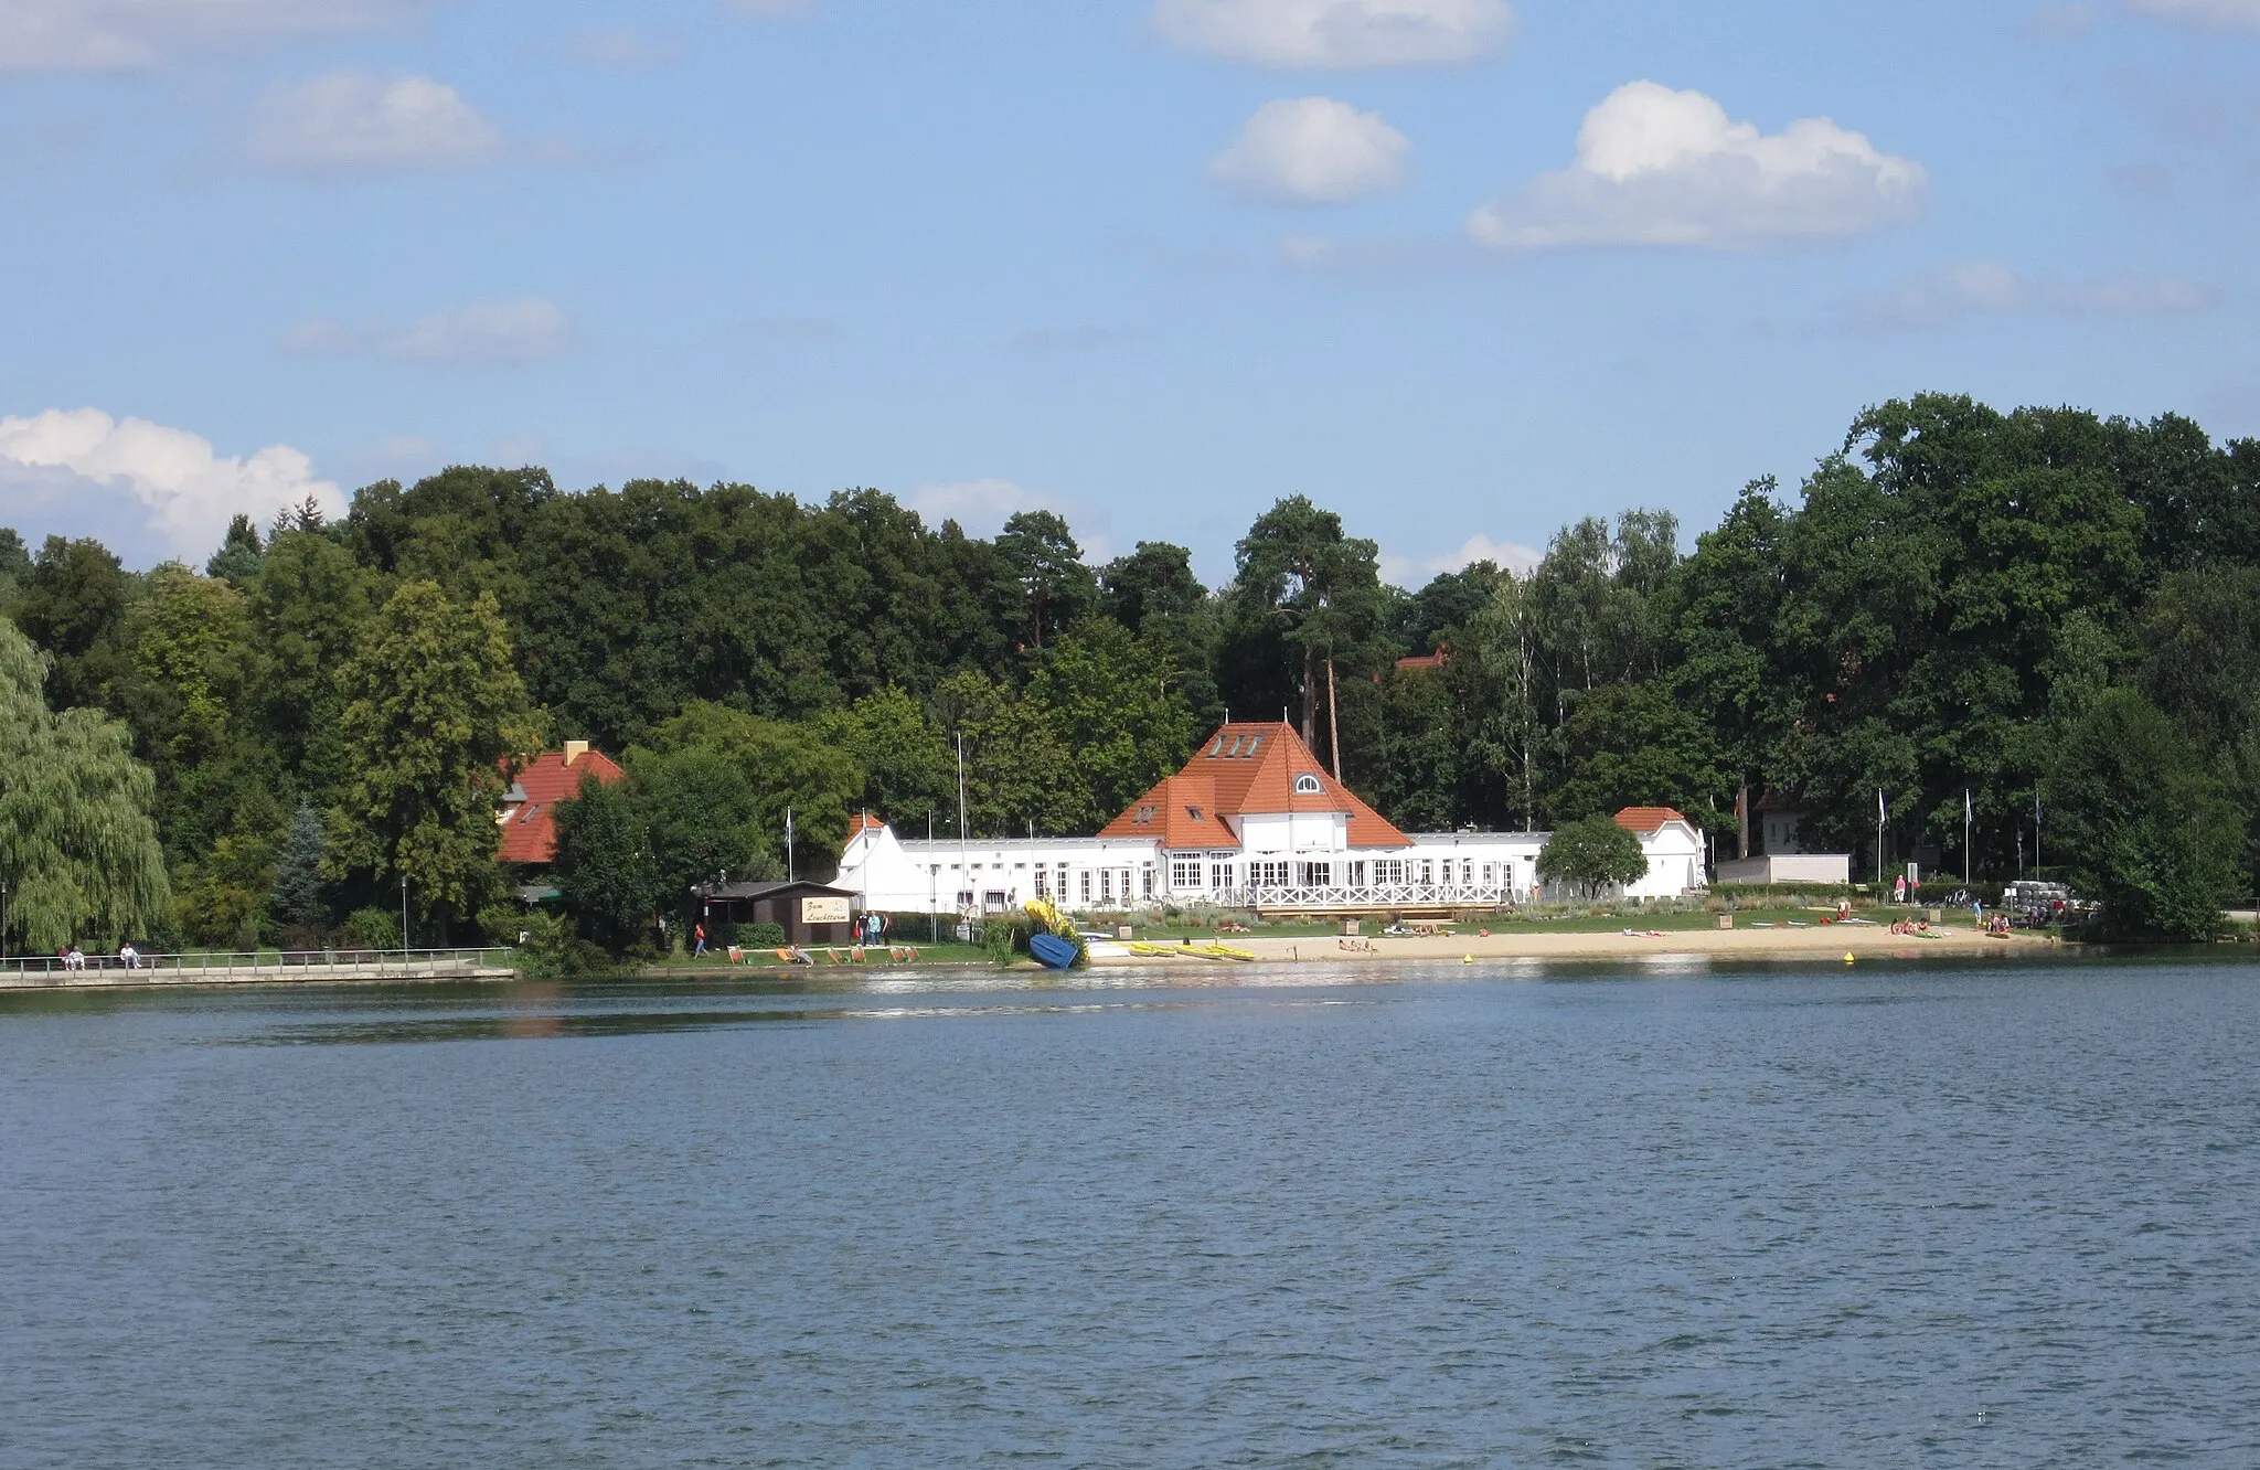
M 1693 547 L 1627 509 L 1417 590 L 1304 498 L 1207 588 L 1046 511 L 974 538 L 879 491 L 450 468 L 237 518 L 203 568 L 0 531 L 0 615 L 11 945 L 375 941 L 402 880 L 429 932 L 495 927 L 504 767 L 567 737 L 631 771 L 560 864 L 619 939 L 782 871 L 786 805 L 800 871 L 859 807 L 954 832 L 960 740 L 976 835 L 1092 832 L 1227 710 L 1288 712 L 1408 830 L 1659 803 L 1733 855 L 1781 792 L 1869 873 L 1883 792 L 1887 868 L 2045 841 L 2158 934 L 2260 873 L 2260 443 L 2179 416 L 1887 403 Z

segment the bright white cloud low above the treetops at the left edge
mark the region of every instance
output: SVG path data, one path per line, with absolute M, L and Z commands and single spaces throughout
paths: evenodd
M 0 482 L 23 473 L 61 473 L 77 484 L 131 493 L 145 529 L 176 556 L 197 559 L 219 545 L 228 518 L 269 520 L 312 495 L 339 516 L 346 498 L 314 464 L 271 443 L 249 457 L 219 457 L 212 441 L 147 418 L 111 418 L 102 409 L 47 409 L 0 418 Z M 52 479 L 50 479 L 50 486 Z

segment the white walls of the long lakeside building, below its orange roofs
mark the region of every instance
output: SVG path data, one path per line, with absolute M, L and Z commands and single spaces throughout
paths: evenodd
M 1069 911 L 1180 907 L 1410 909 L 1510 907 L 1537 896 L 1546 832 L 1419 832 L 1401 848 L 1351 848 L 1340 814 L 1250 814 L 1232 850 L 1164 850 L 1137 837 L 902 841 L 859 830 L 834 887 L 857 907 L 897 914 L 1003 911 L 1046 898 Z M 1641 835 L 1648 877 L 1632 898 L 1704 887 L 1702 835 L 1663 823 Z

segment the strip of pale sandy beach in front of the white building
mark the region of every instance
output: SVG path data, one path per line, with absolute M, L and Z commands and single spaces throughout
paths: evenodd
M 1654 959 L 1690 954 L 1702 959 L 1921 959 L 1926 954 L 2000 954 L 2045 950 L 2061 941 L 2045 934 L 1991 939 L 1971 927 L 1932 927 L 1932 939 L 1892 934 L 1889 925 L 1819 925 L 1810 929 L 1668 929 L 1663 934 L 1546 934 L 1501 929 L 1492 934 L 1363 936 L 1363 939 L 1268 939 L 1227 934 L 1220 943 L 1257 959 Z M 1367 948 L 1370 945 L 1370 948 Z M 1112 948 L 1112 945 L 1110 945 Z M 1150 954 L 1094 952 L 1092 963 L 1155 963 Z M 1196 961 L 1184 961 L 1196 963 Z

